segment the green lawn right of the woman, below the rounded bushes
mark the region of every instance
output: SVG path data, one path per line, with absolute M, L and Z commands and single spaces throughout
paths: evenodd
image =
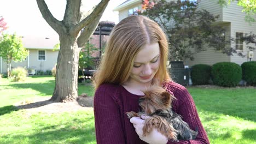
M 256 89 L 188 89 L 211 143 L 256 143 Z

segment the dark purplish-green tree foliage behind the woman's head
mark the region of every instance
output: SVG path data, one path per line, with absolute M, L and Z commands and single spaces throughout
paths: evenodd
M 205 45 L 228 51 L 222 37 L 224 28 L 212 25 L 218 16 L 197 10 L 196 1 L 143 1 L 143 8 L 139 14 L 155 20 L 164 29 L 170 43 L 171 61 L 193 60 L 194 53 L 207 50 Z

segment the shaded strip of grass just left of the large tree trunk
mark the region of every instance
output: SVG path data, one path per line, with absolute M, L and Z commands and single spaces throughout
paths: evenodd
M 43 83 L 13 83 L 9 86 L 18 88 L 18 89 L 26 89 L 31 88 L 35 91 L 40 92 L 41 95 L 51 95 L 53 94 L 55 87 L 55 80 L 44 81 Z

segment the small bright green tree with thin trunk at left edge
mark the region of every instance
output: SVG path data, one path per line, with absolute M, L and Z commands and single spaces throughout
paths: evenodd
M 7 62 L 7 73 L 10 76 L 11 61 L 23 61 L 28 55 L 16 34 L 3 34 L 0 42 L 0 56 Z

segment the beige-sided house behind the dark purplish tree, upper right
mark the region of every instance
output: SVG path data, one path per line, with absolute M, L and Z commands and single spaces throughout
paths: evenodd
M 245 42 L 240 42 L 240 37 L 250 32 L 256 34 L 256 22 L 250 24 L 245 21 L 245 13 L 241 12 L 242 7 L 237 6 L 237 2 L 232 2 L 227 7 L 221 7 L 217 2 L 218 0 L 200 0 L 199 9 L 206 9 L 213 15 L 219 15 L 219 19 L 215 24 L 224 27 L 226 30 L 220 37 L 235 38 L 235 43 L 231 45 L 236 47 L 237 51 L 241 51 L 246 55 L 248 52 L 247 45 Z M 119 11 L 119 21 L 121 21 L 133 14 L 136 9 L 142 10 L 141 0 L 127 0 L 114 8 L 114 11 Z M 256 16 L 254 19 L 256 19 Z M 243 62 L 248 61 L 247 57 L 242 58 L 236 54 L 234 56 L 227 56 L 221 51 L 215 51 L 214 49 L 196 53 L 194 57 L 194 61 L 187 60 L 184 61 L 184 64 L 190 67 L 195 64 L 212 65 L 217 62 L 235 62 L 241 65 Z M 256 51 L 254 51 L 252 61 L 256 61 Z

